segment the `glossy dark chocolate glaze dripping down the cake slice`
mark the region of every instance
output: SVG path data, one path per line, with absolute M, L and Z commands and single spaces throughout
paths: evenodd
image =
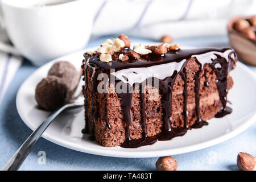
M 129 51 L 129 49 L 123 49 L 123 52 Z M 94 109 L 94 106 L 97 106 L 97 102 L 94 101 L 93 96 L 96 96 L 96 86 L 97 86 L 97 73 L 106 73 L 110 76 L 110 69 L 115 69 L 114 76 L 117 77 L 118 81 L 115 80 L 114 84 L 117 85 L 118 82 L 123 82 L 123 84 L 127 85 L 127 93 L 118 93 L 118 97 L 121 98 L 121 107 L 123 110 L 123 118 L 126 122 L 126 131 L 125 131 L 125 142 L 121 147 L 126 148 L 136 148 L 140 146 L 144 146 L 147 144 L 153 144 L 157 140 L 170 140 L 174 137 L 184 135 L 187 133 L 189 128 L 188 126 L 188 110 L 187 110 L 187 75 L 186 75 L 186 65 L 188 60 L 192 57 L 195 57 L 196 63 L 199 65 L 199 71 L 195 74 L 195 110 L 196 110 L 196 122 L 192 126 L 192 128 L 200 128 L 204 125 L 208 125 L 206 121 L 201 119 L 200 115 L 200 73 L 203 71 L 204 64 L 210 65 L 213 68 L 216 74 L 216 84 L 218 89 L 218 94 L 220 96 L 220 100 L 222 103 L 222 109 L 215 115 L 215 117 L 223 117 L 226 114 L 232 112 L 232 109 L 226 106 L 226 95 L 228 93 L 227 86 L 227 77 L 230 70 L 232 70 L 236 63 L 236 53 L 234 53 L 233 49 L 230 48 L 204 48 L 204 49 L 187 49 L 187 50 L 179 50 L 179 51 L 168 51 L 165 55 L 155 55 L 150 53 L 148 55 L 143 55 L 141 59 L 130 59 L 126 62 L 122 62 L 121 60 L 116 59 L 113 56 L 113 60 L 111 65 L 107 63 L 102 63 L 99 60 L 97 55 L 90 57 L 87 53 L 85 53 L 86 67 L 85 69 L 85 87 L 84 92 L 88 89 L 88 78 L 87 78 L 87 69 L 88 67 L 93 69 L 93 75 L 91 85 L 91 97 L 92 97 L 92 115 L 93 118 L 97 118 L 97 110 Z M 203 56 L 203 58 L 202 58 Z M 146 60 L 146 61 L 145 61 Z M 150 77 L 152 80 L 156 79 L 159 81 L 159 90 L 162 93 L 162 120 L 163 120 L 163 128 L 162 132 L 155 137 L 147 136 L 147 127 L 146 127 L 146 114 L 145 114 L 145 98 L 144 86 L 143 84 L 146 80 L 140 80 L 135 82 L 129 82 L 127 79 L 128 76 L 125 76 L 126 72 L 130 71 L 134 74 L 134 78 L 137 77 L 139 73 L 148 72 L 147 68 L 160 68 L 161 65 L 166 68 L 166 70 L 161 72 L 159 77 Z M 217 65 L 217 67 L 216 67 Z M 160 68 L 160 69 L 162 69 Z M 157 71 L 157 69 L 155 69 Z M 118 76 L 118 73 L 122 72 L 122 76 Z M 172 127 L 172 90 L 176 80 L 177 75 L 182 77 L 184 81 L 183 85 L 183 98 L 184 98 L 184 106 L 183 106 L 183 117 L 184 124 L 181 128 Z M 113 76 L 113 75 L 111 75 Z M 130 79 L 130 77 L 128 77 Z M 133 79 L 130 79 L 133 80 Z M 135 79 L 136 80 L 136 79 Z M 154 82 L 154 81 L 153 81 Z M 133 93 L 128 92 L 129 89 L 134 89 L 135 85 L 139 85 L 139 96 L 141 103 L 141 123 L 142 123 L 142 138 L 138 140 L 134 140 L 131 138 L 130 134 L 130 125 L 133 123 L 133 117 L 131 108 L 133 107 Z M 209 82 L 206 81 L 204 83 L 205 86 L 209 86 Z M 154 85 L 153 85 L 154 86 Z M 85 94 L 86 95 L 86 94 Z M 104 98 L 106 99 L 107 95 L 104 93 Z M 97 99 L 97 98 L 96 98 Z M 87 106 L 87 98 L 85 97 L 85 105 Z M 106 125 L 108 129 L 111 129 L 111 126 L 108 122 L 108 114 L 106 113 Z M 85 111 L 85 119 L 86 119 L 86 127 L 88 127 L 88 111 Z M 93 122 L 92 122 L 93 123 Z M 94 125 L 91 127 L 91 134 L 93 134 Z

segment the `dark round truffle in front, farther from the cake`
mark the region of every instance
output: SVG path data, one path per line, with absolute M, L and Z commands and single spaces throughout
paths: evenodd
M 57 76 L 48 76 L 36 86 L 35 100 L 44 110 L 56 110 L 64 105 L 68 87 L 63 79 Z

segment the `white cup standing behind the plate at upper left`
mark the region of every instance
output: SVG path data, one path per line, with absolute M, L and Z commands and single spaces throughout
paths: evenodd
M 94 18 L 91 1 L 1 2 L 4 27 L 11 42 L 35 65 L 82 49 L 89 40 Z

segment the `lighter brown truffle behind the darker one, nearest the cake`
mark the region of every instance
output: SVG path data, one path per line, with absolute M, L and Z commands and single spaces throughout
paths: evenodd
M 75 92 L 79 83 L 80 74 L 71 63 L 68 61 L 59 61 L 53 64 L 48 72 L 48 76 L 53 75 L 63 79 L 71 95 Z

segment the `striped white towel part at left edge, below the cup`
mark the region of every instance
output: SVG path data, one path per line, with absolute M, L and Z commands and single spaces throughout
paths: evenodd
M 8 43 L 9 39 L 5 30 L 0 28 L 0 42 Z M 0 51 L 0 104 L 13 77 L 22 64 L 21 56 Z

